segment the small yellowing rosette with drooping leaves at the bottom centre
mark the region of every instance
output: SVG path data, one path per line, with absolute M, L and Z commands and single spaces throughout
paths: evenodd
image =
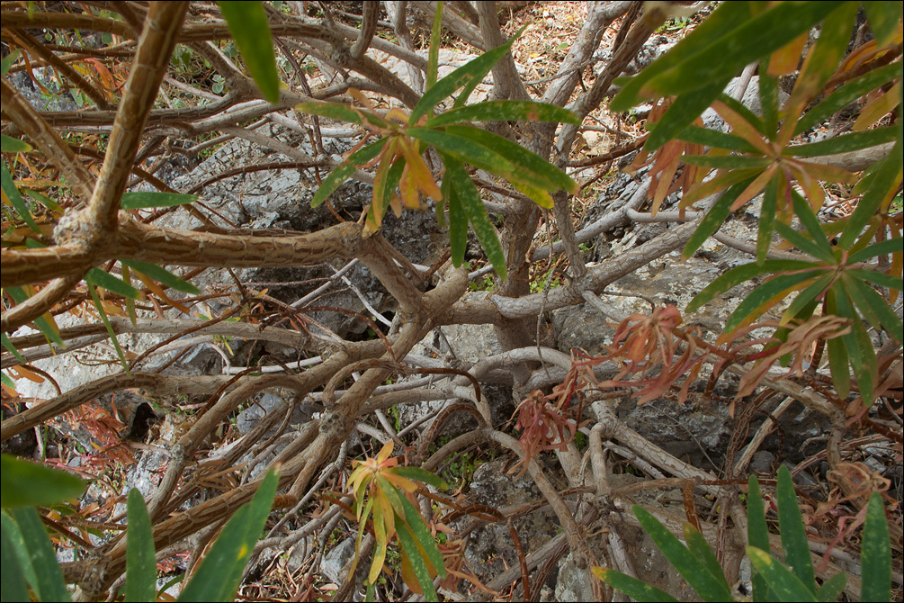
M 348 477 L 354 495 L 353 511 L 358 521 L 358 535 L 354 542 L 354 560 L 349 579 L 354 575 L 361 551 L 361 540 L 368 518 L 372 516 L 373 551 L 371 569 L 367 575 L 367 598 L 372 600 L 376 579 L 386 561 L 386 548 L 395 536 L 400 544 L 401 577 L 405 584 L 428 601 L 436 601 L 434 576 L 446 578 L 442 554 L 424 518 L 409 496 L 420 487 L 416 482 L 447 489 L 447 483 L 426 469 L 398 466 L 398 458 L 390 458 L 394 444 L 386 443 L 375 458 L 354 461 L 357 467 Z

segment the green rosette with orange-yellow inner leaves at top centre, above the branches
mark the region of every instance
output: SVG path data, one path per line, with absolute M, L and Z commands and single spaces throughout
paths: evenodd
M 487 258 L 501 278 L 505 278 L 505 257 L 492 222 L 466 165 L 499 176 L 541 207 L 552 207 L 552 193 L 577 193 L 578 185 L 564 172 L 539 155 L 481 127 L 476 122 L 551 121 L 579 124 L 569 110 L 534 101 L 489 100 L 466 105 L 476 86 L 500 61 L 523 32 L 490 52 L 468 61 L 428 87 L 410 114 L 400 108 L 379 115 L 370 102 L 356 91 L 353 96 L 364 108 L 334 102 L 308 102 L 297 109 L 323 118 L 339 119 L 366 129 L 366 134 L 342 164 L 327 176 L 315 193 L 312 206 L 323 203 L 355 171 L 376 167 L 373 199 L 368 209 L 365 234 L 380 228 L 388 209 L 400 215 L 402 206 L 422 207 L 421 198 L 438 203 L 438 219 L 448 224 L 452 261 L 460 266 L 465 259 L 467 226 L 474 228 Z M 435 28 L 435 34 L 437 28 Z M 431 45 L 430 62 L 436 77 L 438 35 Z M 428 78 L 429 83 L 430 78 Z M 462 90 L 452 108 L 436 113 L 441 102 Z M 373 137 L 378 137 L 372 141 Z M 445 166 L 442 184 L 422 156 L 433 148 Z M 396 191 L 398 190 L 398 193 Z M 445 213 L 448 212 L 446 220 Z

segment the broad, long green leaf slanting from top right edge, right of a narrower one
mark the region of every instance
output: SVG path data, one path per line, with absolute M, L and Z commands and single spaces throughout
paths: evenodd
M 809 31 L 842 5 L 842 2 L 774 5 L 737 27 L 723 30 L 715 40 L 695 35 L 698 27 L 684 38 L 684 42 L 697 44 L 696 52 L 648 81 L 644 90 L 660 97 L 681 95 L 708 88 L 712 81 L 730 79 L 749 63 Z M 672 52 L 677 48 L 676 45 Z

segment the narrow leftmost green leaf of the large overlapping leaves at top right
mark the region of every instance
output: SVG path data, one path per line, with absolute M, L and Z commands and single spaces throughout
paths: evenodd
M 748 2 L 726 2 L 720 4 L 712 14 L 697 25 L 692 33 L 686 35 L 683 40 L 674 45 L 669 51 L 656 59 L 644 71 L 625 81 L 622 90 L 609 102 L 609 109 L 620 112 L 626 111 L 650 98 L 649 94 L 641 96 L 641 89 L 656 76 L 677 69 L 685 61 L 705 48 L 711 41 L 719 39 L 726 32 L 732 32 L 741 24 L 747 22 L 753 14 L 752 5 Z M 726 70 L 729 71 L 729 70 Z M 739 70 L 732 70 L 730 76 Z M 726 75 L 729 75 L 726 73 Z M 720 80 L 724 79 L 720 78 Z

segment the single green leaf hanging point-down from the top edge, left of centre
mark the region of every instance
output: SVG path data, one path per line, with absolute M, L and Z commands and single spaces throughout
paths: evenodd
M 273 53 L 273 36 L 267 13 L 260 2 L 218 2 L 223 18 L 248 71 L 258 84 L 264 98 L 271 103 L 279 100 L 277 59 Z

